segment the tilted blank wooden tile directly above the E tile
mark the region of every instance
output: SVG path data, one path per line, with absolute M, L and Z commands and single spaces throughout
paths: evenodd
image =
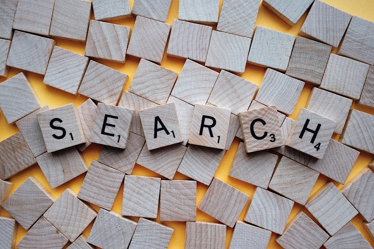
M 127 79 L 127 74 L 90 61 L 78 93 L 104 104 L 116 105 Z

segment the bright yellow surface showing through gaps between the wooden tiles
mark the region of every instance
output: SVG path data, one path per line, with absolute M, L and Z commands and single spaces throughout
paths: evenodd
M 344 10 L 352 15 L 357 15 L 362 18 L 365 18 L 369 21 L 374 22 L 374 1 L 373 0 L 323 0 L 324 2 L 331 4 L 334 7 L 337 7 L 338 9 Z M 130 0 L 130 6 L 132 6 L 134 3 L 134 0 Z M 222 5 L 222 0 L 220 1 L 220 7 Z M 260 10 L 258 12 L 258 17 L 257 17 L 257 22 L 256 25 L 260 25 L 263 27 L 267 28 L 272 28 L 274 30 L 282 31 L 285 33 L 297 35 L 297 32 L 300 30 L 301 25 L 305 19 L 306 15 L 304 14 L 300 21 L 297 22 L 297 24 L 294 27 L 289 26 L 286 24 L 286 22 L 282 21 L 278 16 L 276 16 L 273 12 L 271 12 L 269 9 L 264 7 L 263 5 L 260 6 Z M 168 15 L 167 23 L 172 24 L 173 19 L 178 18 L 178 0 L 172 0 L 171 4 L 171 10 Z M 113 21 L 112 23 L 115 24 L 120 24 L 120 25 L 127 25 L 132 28 L 134 27 L 134 21 L 135 18 L 128 18 L 128 19 L 123 19 L 119 21 Z M 69 49 L 71 51 L 84 54 L 85 50 L 85 43 L 80 43 L 80 42 L 72 42 L 68 40 L 62 40 L 62 39 L 55 39 L 57 42 L 57 46 L 64 47 L 65 49 Z M 335 52 L 335 51 L 333 51 Z M 131 80 L 135 74 L 135 70 L 137 69 L 137 65 L 140 61 L 140 59 L 127 56 L 126 58 L 126 64 L 117 64 L 113 62 L 107 62 L 107 61 L 102 61 L 102 60 L 97 60 L 98 62 L 107 65 L 109 67 L 112 67 L 116 70 L 119 70 L 123 73 L 126 73 L 129 75 L 129 80 L 126 83 L 125 90 L 129 89 Z M 170 56 L 163 56 L 162 60 L 162 66 L 169 68 L 175 72 L 180 73 L 182 67 L 184 64 L 184 59 L 177 59 L 173 58 Z M 16 70 L 14 68 L 10 68 L 9 70 L 9 77 L 12 77 L 16 74 L 21 72 L 20 70 Z M 261 67 L 256 67 L 253 65 L 246 65 L 245 72 L 242 75 L 243 78 L 260 85 L 261 79 L 263 77 L 263 74 L 265 72 L 265 68 Z M 52 108 L 54 107 L 59 107 L 61 105 L 69 104 L 71 102 L 74 102 L 77 106 L 82 104 L 87 98 L 82 95 L 71 95 L 70 93 L 63 92 L 62 90 L 55 89 L 53 87 L 47 86 L 43 84 L 43 76 L 34 74 L 34 73 L 26 73 L 27 77 L 30 79 L 31 84 L 33 85 L 34 89 L 36 90 L 37 95 L 39 96 L 42 105 L 50 105 Z M 4 77 L 0 77 L 0 83 L 6 80 Z M 298 111 L 300 108 L 303 108 L 306 104 L 310 89 L 312 89 L 312 86 L 306 84 L 304 87 L 301 97 L 297 103 L 297 106 L 295 108 L 294 113 L 290 116 L 292 119 L 295 119 Z M 358 109 L 360 111 L 365 111 L 370 114 L 374 114 L 374 110 L 370 108 L 364 108 L 360 106 L 356 106 L 355 104 L 352 105 L 352 108 Z M 16 127 L 15 124 L 9 125 L 6 123 L 6 120 L 4 118 L 4 115 L 0 113 L 0 141 L 8 138 L 9 136 L 12 136 L 13 134 L 17 133 L 19 130 Z M 339 135 L 334 134 L 333 136 L 334 139 L 338 139 Z M 254 186 L 251 184 L 244 183 L 242 181 L 239 181 L 237 179 L 231 178 L 228 176 L 230 167 L 237 149 L 237 146 L 239 144 L 239 139 L 234 139 L 234 142 L 232 146 L 230 147 L 230 150 L 226 152 L 226 154 L 223 157 L 222 162 L 220 163 L 220 166 L 218 167 L 217 172 L 215 173 L 215 176 L 230 185 L 232 185 L 235 188 L 238 188 L 239 190 L 243 191 L 246 194 L 249 194 L 249 196 L 252 196 Z M 83 156 L 85 157 L 86 161 L 88 164 L 91 163 L 92 160 L 96 160 L 99 157 L 100 151 L 101 151 L 102 146 L 97 145 L 97 144 L 92 144 L 87 150 L 83 152 Z M 367 167 L 368 163 L 370 160 L 373 159 L 373 155 L 361 152 L 359 159 L 357 160 L 355 166 L 352 169 L 352 172 L 350 173 L 348 177 L 348 181 L 353 178 L 360 170 L 364 169 Z M 337 165 L 338 167 L 338 165 Z M 142 166 L 135 165 L 134 171 L 132 172 L 135 175 L 147 175 L 147 176 L 159 176 L 156 173 L 145 169 Z M 67 182 L 64 185 L 61 185 L 58 188 L 55 188 L 52 190 L 49 187 L 48 182 L 46 181 L 42 171 L 40 170 L 38 165 L 34 165 L 21 173 L 17 174 L 16 176 L 13 176 L 10 178 L 10 181 L 14 183 L 13 188 L 11 193 L 15 191 L 16 188 L 19 187 L 19 185 L 22 184 L 23 181 L 29 176 L 34 176 L 38 181 L 41 182 L 41 184 L 47 188 L 47 190 L 52 193 L 52 195 L 56 198 L 58 198 L 62 192 L 66 188 L 71 188 L 73 191 L 78 193 L 79 188 L 83 182 L 83 178 L 85 174 Z M 176 173 L 174 179 L 189 179 L 186 176 Z M 312 194 L 315 193 L 325 182 L 328 181 L 328 178 L 325 176 L 320 176 L 316 182 L 315 187 L 313 188 Z M 335 185 L 337 185 L 338 188 L 341 188 L 343 185 L 338 184 L 337 182 L 334 182 Z M 197 183 L 197 205 L 199 204 L 200 200 L 202 199 L 206 189 L 208 187 L 200 184 L 199 182 Z M 121 207 L 122 207 L 122 191 L 123 187 L 120 188 L 119 194 L 117 195 L 117 198 L 114 202 L 113 210 L 116 212 L 121 212 Z M 92 205 L 93 208 L 98 211 L 99 207 Z M 240 220 L 243 220 L 245 210 L 248 206 L 245 206 L 244 210 L 239 216 Z M 292 209 L 291 215 L 289 216 L 288 220 L 291 220 L 292 217 L 299 211 L 303 210 L 307 215 L 311 216 L 310 213 L 301 205 L 298 205 L 295 203 L 294 208 Z M 9 213 L 7 213 L 4 209 L 1 211 L 0 215 L 4 216 L 10 216 Z M 132 217 L 135 220 L 138 220 L 136 217 Z M 314 218 L 313 218 L 314 219 Z M 159 219 L 157 218 L 157 221 Z M 209 221 L 209 222 L 217 222 L 214 218 L 212 218 L 209 215 L 206 215 L 205 213 L 201 212 L 200 210 L 197 210 L 197 221 Z M 369 234 L 365 230 L 364 226 L 362 225 L 362 218 L 357 215 L 355 218 L 352 220 L 353 224 L 361 231 L 365 239 L 368 240 L 368 242 L 371 244 L 371 246 L 374 247 L 374 242 L 371 240 Z M 184 238 L 185 238 L 185 228 L 186 224 L 185 222 L 163 222 L 166 225 L 169 225 L 175 229 L 174 234 L 172 236 L 171 242 L 169 244 L 169 248 L 184 248 Z M 89 231 L 91 230 L 92 227 L 91 223 L 88 228 L 84 231 L 84 234 L 88 236 Z M 233 229 L 230 227 L 227 227 L 227 234 L 226 234 L 226 246 L 229 245 L 230 238 L 232 235 Z M 18 233 L 17 233 L 17 238 L 16 242 L 18 242 L 24 235 L 26 231 L 21 227 L 18 226 Z M 272 237 L 270 238 L 270 243 L 269 243 L 269 248 L 281 248 L 281 246 L 278 245 L 278 243 L 275 242 L 275 237 L 276 234 L 273 233 Z M 69 243 L 70 244 L 70 243 Z M 68 244 L 68 245 L 69 245 Z M 66 248 L 67 246 L 65 246 Z

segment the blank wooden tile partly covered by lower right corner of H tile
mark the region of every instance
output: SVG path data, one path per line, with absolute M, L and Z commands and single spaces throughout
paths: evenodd
M 344 185 L 359 154 L 359 151 L 331 139 L 324 158 L 312 158 L 307 166 Z

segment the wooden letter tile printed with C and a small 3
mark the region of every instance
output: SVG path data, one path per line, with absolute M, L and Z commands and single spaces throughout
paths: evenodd
M 239 113 L 247 153 L 284 145 L 281 123 L 275 107 Z

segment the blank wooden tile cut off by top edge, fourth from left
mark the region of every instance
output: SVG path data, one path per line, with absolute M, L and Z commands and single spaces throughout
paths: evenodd
M 93 0 L 92 7 L 97 21 L 114 21 L 131 17 L 129 0 Z

